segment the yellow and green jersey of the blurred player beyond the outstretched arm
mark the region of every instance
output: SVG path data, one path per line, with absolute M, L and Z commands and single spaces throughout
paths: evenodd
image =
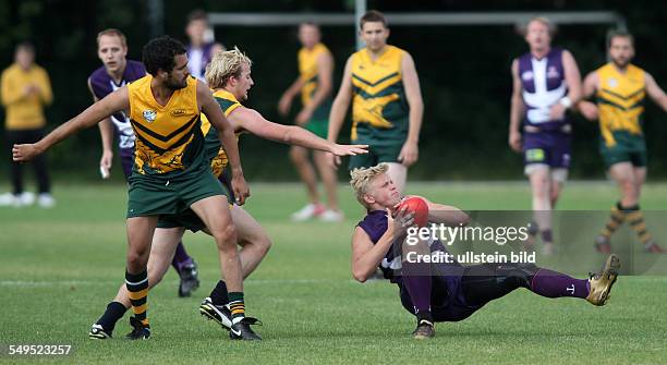
M 299 77 L 303 82 L 301 88 L 301 102 L 303 106 L 307 106 L 313 101 L 313 96 L 319 87 L 318 75 L 319 70 L 317 68 L 317 59 L 322 54 L 331 56 L 331 52 L 327 46 L 323 44 L 315 45 L 312 49 L 301 48 L 299 50 Z M 313 120 L 326 120 L 329 118 L 329 110 L 331 109 L 331 98 L 327 97 L 313 112 Z

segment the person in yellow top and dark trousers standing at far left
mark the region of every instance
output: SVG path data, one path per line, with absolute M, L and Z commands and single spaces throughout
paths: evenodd
M 7 109 L 4 127 L 13 192 L 0 195 L 0 206 L 28 206 L 35 202 L 35 195 L 23 191 L 23 166 L 11 160 L 14 144 L 35 143 L 44 136 L 46 118 L 44 107 L 53 100 L 51 84 L 46 70 L 35 64 L 35 48 L 29 42 L 16 46 L 14 63 L 2 72 L 0 81 L 0 99 Z M 40 207 L 49 208 L 56 204 L 51 196 L 51 186 L 44 155 L 33 160 Z

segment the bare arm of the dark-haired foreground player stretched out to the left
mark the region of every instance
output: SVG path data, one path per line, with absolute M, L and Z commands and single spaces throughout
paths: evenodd
M 129 108 L 130 99 L 128 97 L 128 87 L 123 86 L 109 94 L 106 98 L 95 102 L 81 114 L 61 124 L 39 142 L 35 144 L 14 145 L 14 161 L 29 160 L 70 135 L 93 126 L 116 111 L 128 110 Z

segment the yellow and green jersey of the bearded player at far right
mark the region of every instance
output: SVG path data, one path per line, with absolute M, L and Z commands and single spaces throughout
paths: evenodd
M 607 63 L 596 72 L 599 130 L 605 144 L 616 144 L 614 132 L 641 135 L 646 97 L 644 70 L 629 64 L 621 73 L 614 63 Z

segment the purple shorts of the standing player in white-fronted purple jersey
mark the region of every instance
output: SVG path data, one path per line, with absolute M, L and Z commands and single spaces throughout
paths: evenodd
M 523 134 L 523 163 L 538 163 L 553 169 L 570 167 L 572 136 L 561 131 Z

